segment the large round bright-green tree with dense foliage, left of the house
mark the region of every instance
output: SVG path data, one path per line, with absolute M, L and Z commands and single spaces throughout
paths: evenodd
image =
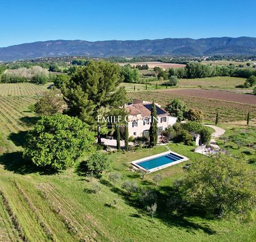
M 76 117 L 44 116 L 29 131 L 23 156 L 37 166 L 65 169 L 94 150 L 94 134 Z

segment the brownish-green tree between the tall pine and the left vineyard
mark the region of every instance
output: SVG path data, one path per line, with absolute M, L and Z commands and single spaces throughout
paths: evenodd
M 51 90 L 45 92 L 34 104 L 34 112 L 39 115 L 61 114 L 66 107 L 62 94 L 57 90 Z

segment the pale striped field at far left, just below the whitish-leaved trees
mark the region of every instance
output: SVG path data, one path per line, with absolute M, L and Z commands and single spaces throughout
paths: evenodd
M 0 96 L 37 96 L 42 95 L 49 85 L 31 83 L 0 83 Z

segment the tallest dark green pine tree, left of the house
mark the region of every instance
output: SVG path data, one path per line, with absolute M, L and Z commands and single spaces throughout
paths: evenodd
M 109 110 L 119 109 L 125 102 L 126 91 L 119 86 L 121 81 L 119 65 L 90 60 L 62 86 L 67 114 L 97 127 L 98 144 L 101 143 L 101 125 L 97 123 L 99 112 L 108 115 Z

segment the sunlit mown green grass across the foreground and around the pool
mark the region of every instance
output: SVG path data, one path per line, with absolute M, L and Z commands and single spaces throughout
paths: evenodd
M 188 156 L 191 159 L 189 163 L 202 157 L 192 153 L 191 146 L 171 144 L 169 147 Z M 130 171 L 133 159 L 166 150 L 166 147 L 158 146 L 108 155 L 112 161 L 111 171 L 123 174 L 122 181 L 133 180 L 140 187 L 157 190 L 160 197 L 155 222 L 141 206 L 139 194 L 128 195 L 121 189 L 121 182 L 113 184 L 108 180 L 108 174 L 103 174 L 102 179 L 81 176 L 79 166 L 59 174 L 42 175 L 29 169 L 25 174 L 19 174 L 15 167 L 21 163 L 20 160 L 1 161 L 0 189 L 9 200 L 29 241 L 50 241 L 37 213 L 57 241 L 89 238 L 97 241 L 253 241 L 254 222 L 243 224 L 235 220 L 209 220 L 192 214 L 177 215 L 168 208 L 173 181 L 184 175 L 184 163 L 158 171 L 164 177 L 159 186 L 155 186 L 152 179 L 157 173 L 140 179 L 140 174 Z M 10 169 L 10 164 L 6 163 L 17 164 L 12 164 Z M 19 184 L 36 210 L 31 209 L 14 182 Z M 90 192 L 95 183 L 101 187 L 96 194 Z M 113 200 L 117 203 L 114 204 Z

